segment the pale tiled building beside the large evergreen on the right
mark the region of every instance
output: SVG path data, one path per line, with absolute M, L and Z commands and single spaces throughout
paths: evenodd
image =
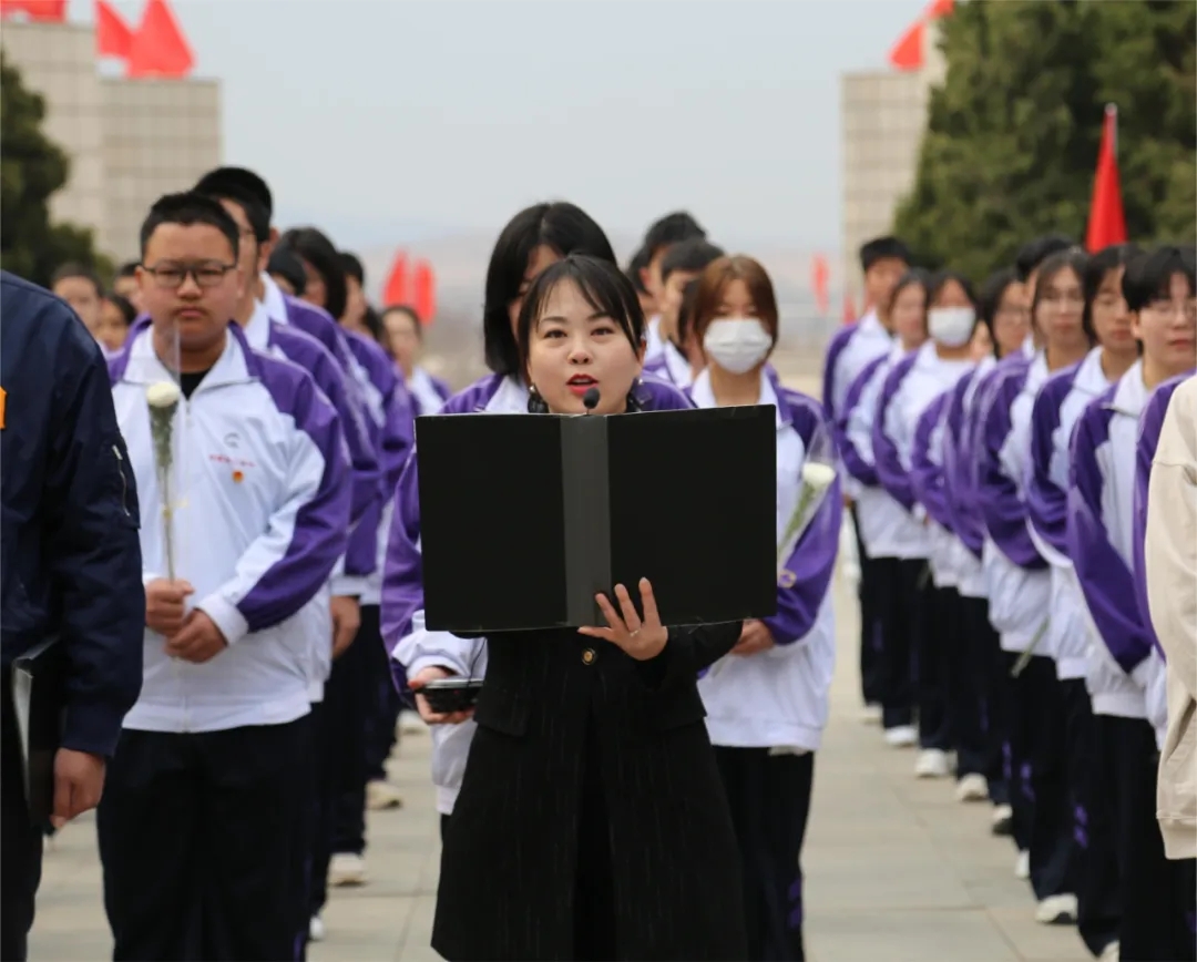
M 888 233 L 898 203 L 915 184 L 931 87 L 944 74 L 934 24 L 919 71 L 869 71 L 841 78 L 844 288 L 857 309 L 864 280 L 858 251 Z

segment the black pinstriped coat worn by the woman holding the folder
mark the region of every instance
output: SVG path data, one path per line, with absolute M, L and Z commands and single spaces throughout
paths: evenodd
M 618 957 L 745 957 L 740 856 L 697 687 L 740 627 L 674 631 L 651 662 L 572 629 L 488 637 L 479 727 L 442 856 L 438 952 L 573 957 L 582 785 L 594 780 Z

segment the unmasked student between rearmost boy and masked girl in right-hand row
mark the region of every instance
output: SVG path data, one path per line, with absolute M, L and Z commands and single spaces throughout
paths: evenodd
M 875 652 L 875 690 L 881 701 L 886 743 L 915 744 L 913 649 L 915 614 L 911 597 L 919 566 L 909 554 L 906 510 L 881 486 L 873 456 L 873 420 L 886 376 L 904 355 L 926 341 L 926 302 L 930 276 L 910 270 L 898 281 L 886 304 L 894 329 L 889 351 L 867 364 L 847 389 L 839 426 L 844 468 L 857 485 L 856 523 L 864 550 L 862 577 L 874 580 L 877 616 L 862 645 Z M 862 659 L 863 662 L 864 659 Z

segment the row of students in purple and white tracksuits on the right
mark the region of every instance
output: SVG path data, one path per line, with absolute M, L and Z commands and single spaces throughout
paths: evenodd
M 1043 237 L 979 296 L 895 238 L 861 257 L 874 308 L 832 341 L 824 404 L 867 717 L 991 802 L 1039 921 L 1101 958 L 1193 958 L 1192 505 L 1174 480 L 1148 497 L 1169 402 L 1191 446 L 1193 249 Z

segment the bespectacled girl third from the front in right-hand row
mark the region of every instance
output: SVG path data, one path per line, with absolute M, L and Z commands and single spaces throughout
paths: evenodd
M 1011 354 L 983 390 L 976 428 L 977 497 L 985 522 L 983 567 L 990 620 L 1013 675 L 1008 682 L 1010 771 L 1029 809 L 1029 852 L 1016 866 L 1026 872 L 1045 924 L 1075 921 L 1077 842 L 1064 755 L 1063 688 L 1047 646 L 1051 572 L 1031 534 L 1027 504 L 1032 409 L 1053 371 L 1089 352 L 1082 278 L 1087 257 L 1076 249 L 1051 255 L 1037 269 L 1031 305 L 1033 357 Z M 1025 664 L 1021 664 L 1025 662 Z

